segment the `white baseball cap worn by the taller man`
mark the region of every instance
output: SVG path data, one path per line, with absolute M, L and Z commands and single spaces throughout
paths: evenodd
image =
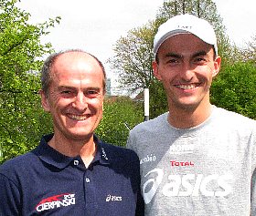
M 213 27 L 208 21 L 198 18 L 195 15 L 176 15 L 159 26 L 154 39 L 154 55 L 156 56 L 159 47 L 170 36 L 191 33 L 215 49 L 218 55 L 217 38 Z

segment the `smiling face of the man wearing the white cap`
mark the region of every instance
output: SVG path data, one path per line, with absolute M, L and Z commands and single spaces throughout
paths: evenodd
M 213 47 L 192 34 L 168 38 L 158 50 L 153 64 L 155 77 L 164 85 L 169 111 L 204 112 L 210 106 L 209 88 L 219 72 Z

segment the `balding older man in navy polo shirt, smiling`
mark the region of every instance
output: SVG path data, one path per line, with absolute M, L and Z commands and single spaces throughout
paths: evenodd
M 42 69 L 42 106 L 54 133 L 0 167 L 0 215 L 143 215 L 139 160 L 94 135 L 105 71 L 81 50 L 51 55 Z

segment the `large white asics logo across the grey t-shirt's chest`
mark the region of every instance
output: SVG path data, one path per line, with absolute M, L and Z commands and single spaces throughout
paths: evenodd
M 154 177 L 146 180 L 143 185 L 144 202 L 148 204 L 155 196 L 156 190 L 161 186 L 164 179 L 164 170 L 155 169 L 149 171 L 144 178 Z M 161 186 L 165 197 L 181 196 L 206 196 L 225 197 L 232 191 L 231 174 L 186 174 L 168 175 L 167 182 Z

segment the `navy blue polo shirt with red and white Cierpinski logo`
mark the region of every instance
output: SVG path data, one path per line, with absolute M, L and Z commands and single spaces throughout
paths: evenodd
M 52 135 L 0 166 L 0 215 L 144 215 L 139 159 L 130 149 L 95 137 L 97 153 L 86 168 L 48 146 Z

